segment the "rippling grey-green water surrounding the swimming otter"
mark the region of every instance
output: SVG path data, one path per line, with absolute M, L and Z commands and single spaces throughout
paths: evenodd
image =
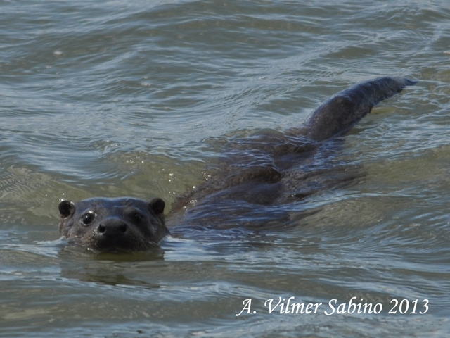
M 2 337 L 449 334 L 446 1 L 0 8 Z M 364 177 L 308 199 L 295 227 L 179 227 L 162 252 L 139 255 L 86 255 L 58 239 L 60 199 L 169 206 L 203 180 L 210 137 L 299 125 L 381 75 L 420 82 L 345 137 L 340 158 Z M 264 302 L 279 297 L 323 304 L 269 313 Z M 326 315 L 352 297 L 383 311 Z M 246 299 L 251 311 L 236 316 Z

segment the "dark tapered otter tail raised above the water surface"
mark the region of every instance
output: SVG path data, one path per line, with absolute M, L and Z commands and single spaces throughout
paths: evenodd
M 373 106 L 416 83 L 405 77 L 380 77 L 356 84 L 316 108 L 304 123 L 302 134 L 319 142 L 345 134 Z

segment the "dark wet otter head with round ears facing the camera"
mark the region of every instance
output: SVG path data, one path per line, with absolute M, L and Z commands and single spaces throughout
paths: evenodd
M 61 201 L 59 232 L 94 251 L 146 251 L 169 234 L 164 207 L 162 199 Z

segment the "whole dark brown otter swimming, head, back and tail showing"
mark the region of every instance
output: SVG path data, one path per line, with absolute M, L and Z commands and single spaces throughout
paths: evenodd
M 340 168 L 314 166 L 314 161 L 329 158 L 335 143 L 330 141 L 348 132 L 373 106 L 416 82 L 405 77 L 361 82 L 325 101 L 300 127 L 227 140 L 205 182 L 174 201 L 172 225 L 233 227 L 262 214 L 280 218 L 283 212 L 277 213 L 275 206 L 321 191 L 330 186 L 330 177 L 352 180 L 352 175 L 340 175 L 347 170 L 338 173 Z M 61 201 L 59 230 L 94 251 L 146 251 L 169 234 L 164 208 L 158 198 Z M 263 222 L 270 223 L 266 218 Z

